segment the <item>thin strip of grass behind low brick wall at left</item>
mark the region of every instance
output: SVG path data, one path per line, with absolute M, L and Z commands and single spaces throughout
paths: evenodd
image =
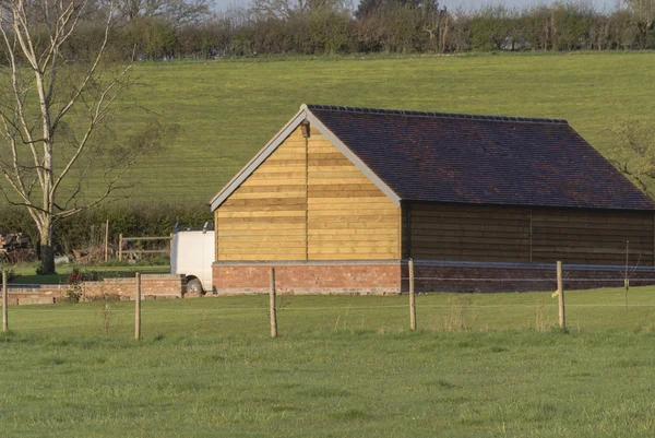
M 66 283 L 67 276 L 71 273 L 74 265 L 59 265 L 57 273 L 51 275 L 37 275 L 36 264 L 23 263 L 10 267 L 17 275 L 13 283 L 21 284 L 61 284 Z M 135 272 L 147 274 L 167 274 L 170 273 L 170 267 L 78 267 L 81 272 L 96 271 L 103 272 L 107 276 L 128 277 L 134 276 Z

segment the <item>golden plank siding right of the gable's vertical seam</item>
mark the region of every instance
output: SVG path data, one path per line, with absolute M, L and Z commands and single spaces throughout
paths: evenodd
M 309 260 L 398 259 L 400 208 L 319 131 L 308 143 Z

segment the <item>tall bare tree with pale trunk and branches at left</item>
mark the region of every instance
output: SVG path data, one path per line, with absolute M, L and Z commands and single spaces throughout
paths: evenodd
M 121 99 L 133 84 L 132 64 L 106 64 L 116 16 L 92 0 L 3 0 L 0 35 L 0 192 L 24 206 L 40 236 L 40 273 L 55 272 L 55 224 L 129 189 L 126 171 L 157 147 L 162 131 L 150 126 L 127 142 L 111 125 L 136 108 Z M 98 15 L 99 14 L 99 15 Z M 85 21 L 103 17 L 104 35 L 90 59 L 67 44 Z M 154 121 L 153 123 L 156 123 Z M 88 181 L 102 185 L 90 193 Z

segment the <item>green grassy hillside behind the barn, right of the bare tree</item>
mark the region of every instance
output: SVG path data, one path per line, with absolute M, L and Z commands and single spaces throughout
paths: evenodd
M 134 199 L 209 202 L 302 103 L 565 118 L 602 152 L 653 117 L 655 54 L 143 63 L 134 98 L 181 128 Z M 128 128 L 126 126 L 126 128 Z

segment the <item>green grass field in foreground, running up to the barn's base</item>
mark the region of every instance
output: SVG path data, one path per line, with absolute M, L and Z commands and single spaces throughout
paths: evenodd
M 10 309 L 3 436 L 652 437 L 655 288 Z M 464 325 L 465 330 L 455 331 Z

